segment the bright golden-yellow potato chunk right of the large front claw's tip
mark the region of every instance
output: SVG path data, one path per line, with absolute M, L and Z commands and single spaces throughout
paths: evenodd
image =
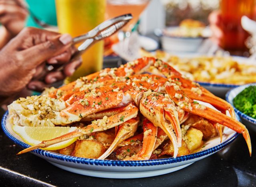
M 188 145 L 188 149 L 190 150 L 190 153 L 196 151 L 199 147 L 202 146 L 203 141 L 203 133 L 195 128 L 190 127 L 185 135 L 185 141 Z

